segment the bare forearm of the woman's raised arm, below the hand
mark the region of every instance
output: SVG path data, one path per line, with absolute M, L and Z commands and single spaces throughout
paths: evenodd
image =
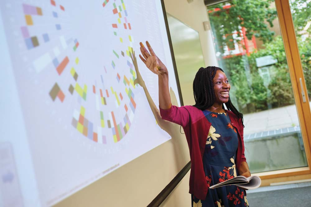
M 171 107 L 171 97 L 169 95 L 169 74 L 160 74 L 159 77 L 159 106 L 162 109 Z

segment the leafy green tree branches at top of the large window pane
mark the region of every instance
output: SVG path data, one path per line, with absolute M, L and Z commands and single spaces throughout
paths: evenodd
M 253 35 L 261 39 L 264 43 L 272 41 L 274 32 L 271 31 L 267 23 L 272 27 L 272 21 L 276 18 L 276 9 L 271 8 L 273 0 L 232 0 L 231 7 L 224 9 L 225 3 L 208 7 L 209 11 L 220 9 L 210 13 L 211 26 L 213 27 L 216 38 L 217 51 L 228 45 L 233 47 L 234 42 L 230 41 L 232 36 L 224 38 L 225 35 L 240 31 L 241 26 L 246 28 L 246 37 L 252 39 Z M 239 33 L 238 33 L 239 36 Z

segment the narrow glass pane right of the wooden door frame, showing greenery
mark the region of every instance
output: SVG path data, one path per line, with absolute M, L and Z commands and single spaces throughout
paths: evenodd
M 290 0 L 304 79 L 311 97 L 311 0 Z M 310 102 L 311 105 L 311 102 Z

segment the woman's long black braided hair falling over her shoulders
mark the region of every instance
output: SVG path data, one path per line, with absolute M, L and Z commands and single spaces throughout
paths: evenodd
M 195 100 L 194 107 L 205 110 L 211 107 L 215 102 L 214 84 L 213 78 L 216 75 L 216 71 L 220 70 L 224 72 L 220 67 L 208 66 L 206 68 L 201 67 L 193 80 L 193 96 Z M 225 103 L 228 110 L 232 111 L 237 117 L 241 118 L 243 124 L 243 114 L 234 107 L 231 102 L 230 96 L 227 103 Z M 225 106 L 222 105 L 225 109 Z M 243 124 L 244 127 L 244 124 Z

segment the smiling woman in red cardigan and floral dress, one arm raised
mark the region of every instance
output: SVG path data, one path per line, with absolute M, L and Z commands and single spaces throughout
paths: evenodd
M 188 141 L 192 206 L 248 206 L 244 189 L 234 185 L 209 189 L 238 175 L 250 176 L 244 156 L 243 115 L 230 101 L 230 84 L 224 71 L 201 67 L 193 81 L 195 105 L 172 106 L 168 71 L 146 44 L 150 53 L 140 43 L 139 57 L 158 75 L 161 117 L 181 125 Z

